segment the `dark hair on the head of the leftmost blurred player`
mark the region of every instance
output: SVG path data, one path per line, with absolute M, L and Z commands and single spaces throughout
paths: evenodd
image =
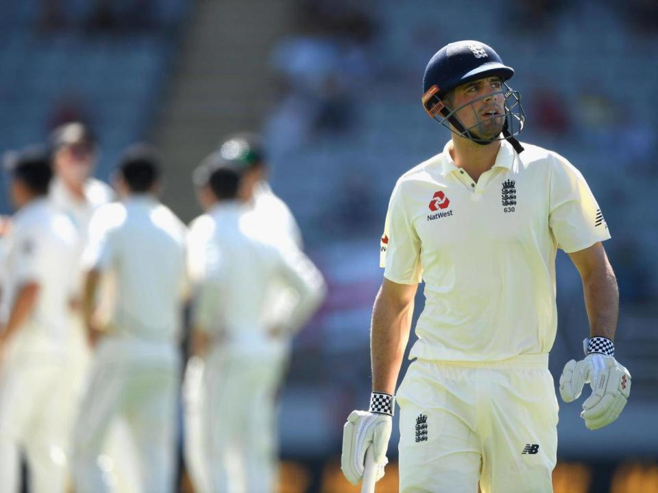
M 43 146 L 30 146 L 5 157 L 5 168 L 35 195 L 47 195 L 53 170 L 50 153 Z

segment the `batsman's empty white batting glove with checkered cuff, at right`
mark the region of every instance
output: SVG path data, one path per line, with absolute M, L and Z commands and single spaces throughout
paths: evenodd
M 631 394 L 631 374 L 614 358 L 611 340 L 594 337 L 583 341 L 585 359 L 565 364 L 560 377 L 560 396 L 565 402 L 578 399 L 589 383 L 592 395 L 583 403 L 581 417 L 589 429 L 598 429 L 616 420 Z

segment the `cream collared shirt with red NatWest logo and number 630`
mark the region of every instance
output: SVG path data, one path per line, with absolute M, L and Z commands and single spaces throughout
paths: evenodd
M 555 340 L 555 255 L 610 238 L 583 175 L 503 140 L 477 183 L 443 152 L 400 177 L 381 243 L 385 277 L 425 281 L 411 357 L 498 361 Z

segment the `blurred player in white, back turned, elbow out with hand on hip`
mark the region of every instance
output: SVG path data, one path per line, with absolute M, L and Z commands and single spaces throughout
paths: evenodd
M 276 485 L 276 390 L 280 338 L 315 312 L 324 281 L 301 251 L 257 236 L 238 197 L 240 175 L 219 153 L 195 172 L 208 212 L 189 240 L 194 352 L 205 359 L 202 425 L 206 484 L 200 492 L 271 492 Z M 245 214 L 247 213 L 247 214 Z M 246 220 L 246 222 L 245 222 Z M 283 279 L 297 293 L 290 311 L 269 320 L 268 292 Z

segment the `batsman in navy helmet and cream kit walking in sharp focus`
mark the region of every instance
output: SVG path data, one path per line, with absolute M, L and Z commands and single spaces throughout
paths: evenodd
M 443 151 L 395 185 L 382 236 L 384 281 L 371 327 L 369 411 L 350 414 L 342 469 L 352 483 L 374 448 L 383 475 L 400 405 L 400 492 L 552 491 L 558 405 L 548 372 L 555 340 L 555 255 L 568 253 L 585 292 L 585 357 L 560 378 L 567 402 L 585 383 L 581 416 L 609 425 L 631 375 L 614 358 L 618 288 L 610 238 L 583 175 L 557 153 L 515 138 L 524 114 L 514 71 L 491 47 L 450 43 L 430 60 L 422 103 L 452 131 Z M 426 305 L 402 384 L 395 385 L 413 299 Z

